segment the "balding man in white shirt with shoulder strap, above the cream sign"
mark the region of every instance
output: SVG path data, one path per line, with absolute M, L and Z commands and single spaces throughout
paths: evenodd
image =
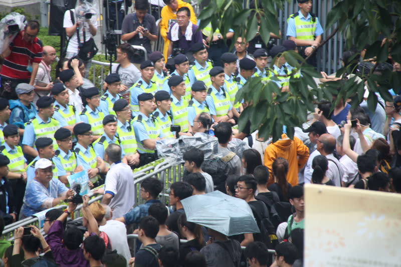
M 326 156 L 328 163 L 328 168 L 326 171 L 326 176 L 331 179 L 336 186 L 341 186 L 341 179 L 344 175 L 344 166 L 334 157 L 336 140 L 331 134 L 325 133 L 319 136 L 317 140 L 317 151 L 321 155 Z M 323 170 L 324 171 L 324 170 Z

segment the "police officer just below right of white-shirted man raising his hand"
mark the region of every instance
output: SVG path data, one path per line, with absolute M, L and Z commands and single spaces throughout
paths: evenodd
M 99 89 L 96 87 L 85 89 L 82 91 L 82 95 L 84 96 L 86 106 L 79 116 L 82 122 L 88 123 L 92 126 L 93 140 L 97 140 L 103 133 L 102 121 L 104 119 L 103 112 L 99 110 Z

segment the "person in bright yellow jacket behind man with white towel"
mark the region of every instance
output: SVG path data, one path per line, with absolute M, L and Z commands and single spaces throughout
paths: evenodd
M 185 3 L 181 0 L 163 0 L 164 6 L 160 12 L 161 16 L 161 21 L 160 21 L 160 34 L 161 37 L 163 37 L 164 40 L 164 48 L 163 48 L 163 55 L 164 55 L 164 60 L 167 61 L 167 49 L 168 45 L 170 44 L 170 41 L 167 39 L 167 33 L 168 33 L 168 21 L 169 20 L 176 20 L 176 12 L 179 8 L 182 7 L 187 7 L 191 13 L 190 16 L 190 21 L 192 24 L 196 25 L 196 16 L 195 13 L 193 12 L 193 8 L 189 3 Z

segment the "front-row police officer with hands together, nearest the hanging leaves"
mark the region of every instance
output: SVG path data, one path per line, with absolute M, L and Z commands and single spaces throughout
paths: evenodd
M 212 86 L 208 89 L 206 103 L 208 103 L 213 120 L 217 123 L 230 121 L 235 124 L 232 111 L 233 105 L 229 94 L 223 88 L 225 81 L 224 69 L 222 67 L 213 67 L 209 74 L 212 79 Z

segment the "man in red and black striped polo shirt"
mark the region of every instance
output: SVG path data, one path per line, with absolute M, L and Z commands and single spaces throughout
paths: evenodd
M 36 37 L 39 29 L 37 21 L 29 21 L 24 31 L 18 33 L 11 45 L 3 52 L 4 63 L 0 71 L 1 97 L 18 99 L 16 93 L 18 84 L 34 85 L 43 52 L 42 41 Z M 14 30 L 19 31 L 18 27 Z M 10 34 L 14 32 L 10 30 Z

